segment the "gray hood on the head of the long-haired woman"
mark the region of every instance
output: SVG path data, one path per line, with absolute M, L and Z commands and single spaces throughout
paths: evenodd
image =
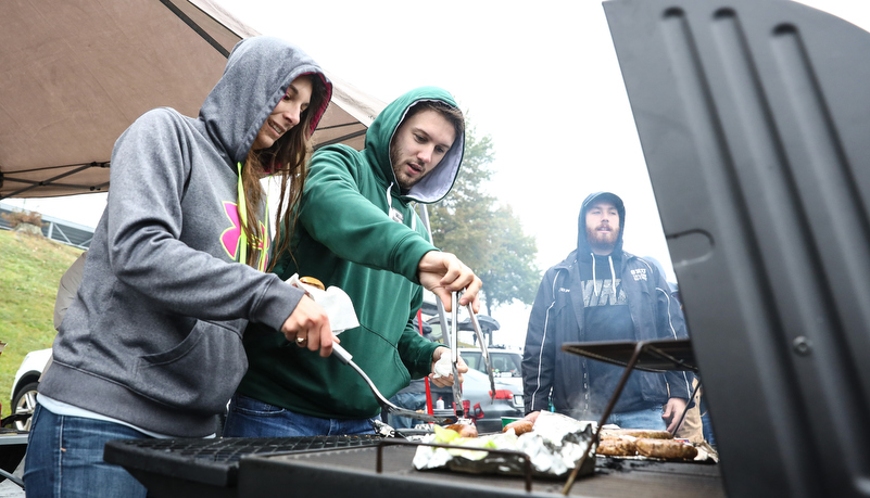
M 326 87 L 326 99 L 312 118 L 308 133 L 313 133 L 332 95 L 332 84 L 317 63 L 276 37 L 256 36 L 236 43 L 224 75 L 200 110 L 200 119 L 231 165 L 244 161 L 290 84 L 305 74 L 316 75 L 314 84 Z

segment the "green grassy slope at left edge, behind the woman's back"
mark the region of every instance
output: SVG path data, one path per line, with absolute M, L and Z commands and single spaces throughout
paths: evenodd
M 81 250 L 0 230 L 0 403 L 10 414 L 12 381 L 24 356 L 51 347 L 58 283 Z

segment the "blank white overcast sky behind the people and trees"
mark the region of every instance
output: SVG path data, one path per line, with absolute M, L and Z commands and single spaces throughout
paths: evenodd
M 535 237 L 542 271 L 575 247 L 587 194 L 608 190 L 626 203 L 626 250 L 676 280 L 601 2 L 217 1 L 384 102 L 425 85 L 452 92 L 478 136 L 492 137 L 488 188 Z M 870 27 L 863 0 L 803 3 Z M 3 202 L 86 226 L 105 205 L 102 194 Z M 521 344 L 528 309 L 493 315 L 505 332 L 496 341 Z

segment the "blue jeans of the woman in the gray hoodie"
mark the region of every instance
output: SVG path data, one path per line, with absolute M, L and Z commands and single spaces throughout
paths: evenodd
M 103 447 L 112 439 L 148 437 L 125 425 L 56 416 L 37 405 L 24 461 L 27 496 L 144 498 L 148 490 L 139 481 L 103 461 Z

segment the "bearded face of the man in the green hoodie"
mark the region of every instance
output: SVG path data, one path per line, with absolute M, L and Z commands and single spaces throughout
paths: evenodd
M 402 192 L 407 192 L 444 158 L 456 130 L 433 110 L 420 111 L 399 126 L 390 145 L 390 162 Z

